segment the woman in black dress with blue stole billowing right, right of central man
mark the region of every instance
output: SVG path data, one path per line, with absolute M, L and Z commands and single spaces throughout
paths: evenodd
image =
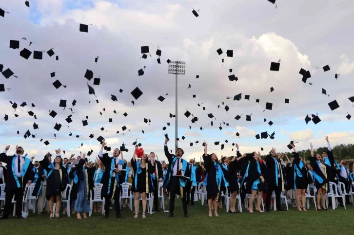
M 205 148 L 204 148 L 204 155 L 203 155 L 203 160 L 205 164 L 205 169 L 207 171 L 207 199 L 208 199 L 208 206 L 209 206 L 209 217 L 212 217 L 212 206 L 213 206 L 213 200 L 214 200 L 214 214 L 216 217 L 217 215 L 217 202 L 219 200 L 220 196 L 220 186 L 221 186 L 221 181 L 224 181 L 225 186 L 227 187 L 229 184 L 224 178 L 224 174 L 222 172 L 221 166 L 217 161 L 217 157 L 215 153 L 212 153 L 209 155 L 207 153 L 208 151 L 208 143 L 204 143 Z

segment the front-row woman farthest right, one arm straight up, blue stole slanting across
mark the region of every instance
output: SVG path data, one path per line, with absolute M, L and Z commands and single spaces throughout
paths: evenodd
M 318 153 L 314 157 L 314 145 L 310 143 L 311 146 L 311 157 L 308 158 L 312 168 L 314 169 L 312 174 L 315 178 L 315 186 L 317 189 L 317 210 L 321 211 L 320 200 L 322 199 L 322 209 L 327 211 L 326 208 L 326 191 L 327 191 L 327 177 L 326 177 L 326 166 L 321 163 L 321 155 Z M 322 196 L 322 197 L 321 197 Z

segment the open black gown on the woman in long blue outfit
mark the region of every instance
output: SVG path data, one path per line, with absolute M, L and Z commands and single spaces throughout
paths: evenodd
M 94 187 L 94 180 L 93 180 L 93 175 L 92 175 L 92 169 L 89 167 L 84 166 L 85 165 L 85 160 L 80 159 L 79 163 L 73 167 L 69 173 L 69 178 L 72 179 L 73 182 L 73 187 L 71 188 L 71 195 L 70 195 L 70 200 L 75 201 L 78 197 L 78 191 L 79 191 L 79 185 L 80 181 L 85 181 L 86 187 L 88 187 L 87 190 L 87 200 L 90 200 L 91 197 L 91 189 Z M 84 174 L 82 170 L 85 169 L 86 177 L 84 177 Z M 76 173 L 76 174 L 75 174 Z M 75 183 L 74 178 L 75 175 L 78 176 L 78 181 Z

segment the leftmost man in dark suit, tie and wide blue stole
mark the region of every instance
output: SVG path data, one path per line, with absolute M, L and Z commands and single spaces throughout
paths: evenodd
M 29 185 L 34 180 L 33 164 L 31 159 L 23 156 L 24 151 L 20 146 L 16 146 L 16 155 L 7 156 L 7 145 L 3 153 L 0 154 L 0 162 L 7 164 L 6 186 L 5 186 L 5 207 L 1 219 L 8 219 L 12 198 L 15 196 L 17 202 L 16 217 L 22 219 L 22 198 L 26 183 Z

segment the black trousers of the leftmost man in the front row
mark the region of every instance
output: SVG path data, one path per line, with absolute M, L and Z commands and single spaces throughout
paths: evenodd
M 5 207 L 4 207 L 4 213 L 2 217 L 6 217 L 6 218 L 9 217 L 10 210 L 11 210 L 11 201 L 14 195 L 16 201 L 16 216 L 17 217 L 22 216 L 22 199 L 23 199 L 22 178 L 18 178 L 18 179 L 20 182 L 20 188 L 12 189 L 6 192 Z

